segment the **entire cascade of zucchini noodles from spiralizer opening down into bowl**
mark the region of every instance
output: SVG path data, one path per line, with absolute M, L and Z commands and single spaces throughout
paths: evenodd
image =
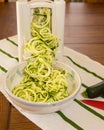
M 55 66 L 59 39 L 52 34 L 52 11 L 35 8 L 31 22 L 32 38 L 24 44 L 24 54 L 30 55 L 20 83 L 12 93 L 32 102 L 54 102 L 68 97 L 68 78 L 65 69 Z

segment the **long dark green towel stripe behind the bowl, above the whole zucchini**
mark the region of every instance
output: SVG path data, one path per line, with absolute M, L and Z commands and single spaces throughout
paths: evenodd
M 92 71 L 88 70 L 87 68 L 85 68 L 85 67 L 79 65 L 79 64 L 76 63 L 71 57 L 69 57 L 69 56 L 66 56 L 66 57 L 67 57 L 74 65 L 76 65 L 77 67 L 79 67 L 79 68 L 85 70 L 86 72 L 88 72 L 88 73 L 94 75 L 95 77 L 97 77 L 97 78 L 99 78 L 99 79 L 101 79 L 101 80 L 104 80 L 104 77 L 101 77 L 101 76 L 97 75 L 95 72 L 92 72 Z

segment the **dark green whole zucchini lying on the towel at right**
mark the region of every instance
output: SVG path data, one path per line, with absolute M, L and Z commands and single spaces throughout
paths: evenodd
M 96 98 L 101 95 L 104 95 L 104 81 L 90 86 L 86 89 L 88 98 Z

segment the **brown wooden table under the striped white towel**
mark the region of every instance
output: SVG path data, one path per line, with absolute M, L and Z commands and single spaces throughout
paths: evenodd
M 0 3 L 0 39 L 17 34 L 15 3 Z M 65 46 L 104 64 L 104 5 L 67 3 Z M 0 93 L 0 130 L 40 130 Z

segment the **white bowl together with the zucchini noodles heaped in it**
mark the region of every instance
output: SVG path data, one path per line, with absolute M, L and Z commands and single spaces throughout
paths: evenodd
M 67 107 L 81 88 L 79 74 L 59 61 L 48 66 L 41 58 L 31 60 L 7 73 L 5 90 L 11 101 L 25 111 L 38 114 Z M 39 69 L 32 69 L 35 64 Z

